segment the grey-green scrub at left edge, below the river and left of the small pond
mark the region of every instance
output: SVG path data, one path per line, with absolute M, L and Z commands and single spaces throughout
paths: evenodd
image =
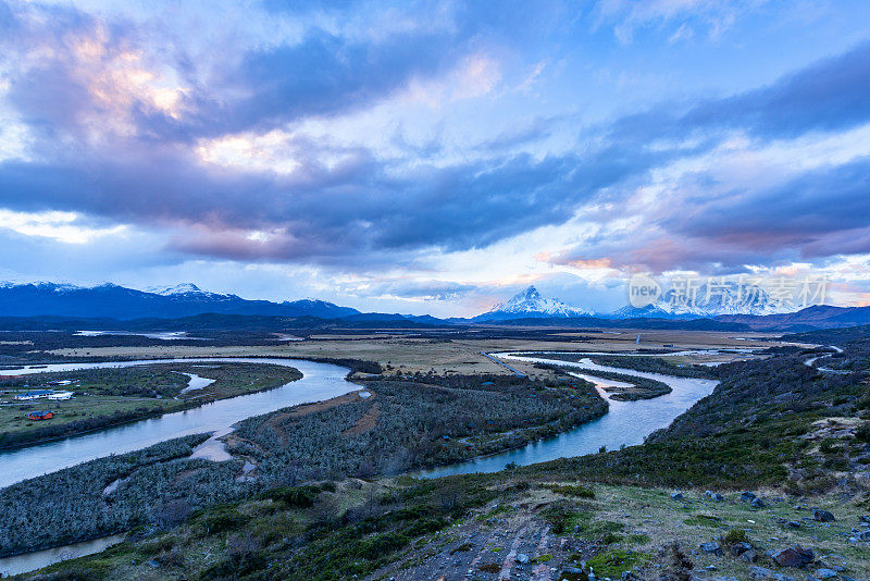
M 187 459 L 208 434 L 91 460 L 0 489 L 0 557 L 96 539 L 140 524 L 177 524 L 191 510 L 239 498 L 241 462 Z M 111 494 L 104 489 L 127 479 Z

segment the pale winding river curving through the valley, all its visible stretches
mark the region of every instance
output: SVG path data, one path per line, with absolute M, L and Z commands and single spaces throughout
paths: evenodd
M 714 351 L 679 351 L 650 356 L 709 355 L 710 353 Z M 576 368 L 576 373 L 572 374 L 595 383 L 602 397 L 608 397 L 604 387 L 624 384 L 612 380 L 595 378 L 592 375 L 595 371 L 612 371 L 627 375 L 649 378 L 667 383 L 673 391 L 668 395 L 659 396 L 655 399 L 643 399 L 638 401 L 618 401 L 609 399 L 610 409 L 608 413 L 558 436 L 534 442 L 515 450 L 422 471 L 414 475 L 438 478 L 473 472 L 496 472 L 502 470 L 510 462 L 530 465 L 557 458 L 592 454 L 597 452 L 601 446 L 606 446 L 608 449 L 616 449 L 623 444 L 629 446 L 641 444 L 651 432 L 668 427 L 674 418 L 688 409 L 695 401 L 709 395 L 717 384 L 716 381 L 711 380 L 674 378 L 658 373 L 645 373 L 629 369 L 597 366 L 589 359 L 582 359 L 577 362 L 555 361 L 542 357 L 545 354 L 540 353 L 535 353 L 535 357 L 517 353 L 492 355 L 502 360 L 558 362 L 566 367 Z M 621 354 L 597 354 L 589 351 L 583 355 Z M 637 356 L 639 354 L 622 355 Z M 355 385 L 345 380 L 348 372 L 345 368 L 299 359 L 276 358 L 197 358 L 102 363 L 62 363 L 23 367 L 4 370 L 4 373 L 27 374 L 50 371 L 73 371 L 78 369 L 122 368 L 151 363 L 202 361 L 257 362 L 289 366 L 301 371 L 303 376 L 298 381 L 266 392 L 221 399 L 190 410 L 166 413 L 159 418 L 141 420 L 38 446 L 2 452 L 0 453 L 0 466 L 2 466 L 3 470 L 0 472 L 0 487 L 9 486 L 10 484 L 29 478 L 35 478 L 111 454 L 124 454 L 141 449 L 174 437 L 203 432 L 213 432 L 216 435 L 223 435 L 232 430 L 234 423 L 251 416 L 268 413 L 289 406 L 321 401 L 361 390 L 359 385 Z M 583 371 L 587 371 L 589 374 L 584 374 Z M 191 378 L 191 380 L 192 379 L 194 378 Z M 198 379 L 204 380 L 204 378 Z M 197 385 L 199 384 L 197 383 Z M 223 447 L 214 441 L 214 437 L 207 441 L 200 448 L 201 449 L 198 448 L 195 455 L 215 460 L 228 459 L 228 455 L 226 455 Z M 122 537 L 123 535 L 115 535 L 78 543 L 67 547 L 58 547 L 0 559 L 0 576 L 34 570 L 73 555 L 82 556 L 96 553 L 115 542 L 120 542 Z

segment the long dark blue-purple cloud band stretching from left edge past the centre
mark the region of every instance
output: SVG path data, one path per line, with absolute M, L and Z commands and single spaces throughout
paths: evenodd
M 596 158 L 598 160 L 598 158 Z M 85 210 L 125 222 L 196 226 L 176 239 L 186 251 L 238 259 L 302 260 L 426 246 L 465 249 L 570 217 L 636 159 L 534 160 L 419 169 L 391 176 L 376 160 L 351 159 L 302 178 L 207 171 L 182 151 L 66 165 L 0 165 L 4 203 L 20 210 Z M 649 163 L 649 161 L 647 161 Z M 589 171 L 577 169 L 588 168 Z M 250 239 L 245 231 L 270 231 Z M 276 232 L 271 232 L 276 231 Z

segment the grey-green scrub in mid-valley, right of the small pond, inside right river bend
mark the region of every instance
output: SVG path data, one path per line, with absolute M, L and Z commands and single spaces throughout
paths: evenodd
M 279 423 L 272 415 L 245 420 L 236 431 L 244 442 L 233 452 L 257 458 L 261 474 L 282 484 L 391 474 L 517 447 L 607 410 L 594 391 L 463 390 L 407 381 L 370 381 L 366 387 L 375 396 L 362 401 Z M 376 420 L 355 432 L 375 406 Z

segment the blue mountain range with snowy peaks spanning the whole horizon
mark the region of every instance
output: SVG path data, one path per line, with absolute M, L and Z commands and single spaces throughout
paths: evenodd
M 335 321 L 360 325 L 509 324 L 537 326 L 707 329 L 721 331 L 806 331 L 870 324 L 870 307 L 815 306 L 795 312 L 749 310 L 733 312 L 728 305 L 671 308 L 659 301 L 642 309 L 626 307 L 609 314 L 544 297 L 530 286 L 508 301 L 471 319 L 361 312 L 316 299 L 274 302 L 202 290 L 191 283 L 137 290 L 114 284 L 82 287 L 55 283 L 0 283 L 0 317 L 62 317 L 76 319 L 183 319 L 204 314 L 259 316 Z

